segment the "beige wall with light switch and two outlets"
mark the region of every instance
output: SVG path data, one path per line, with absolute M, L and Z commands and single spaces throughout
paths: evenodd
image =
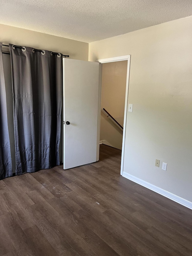
M 90 61 L 128 54 L 124 171 L 192 202 L 192 17 L 89 44 Z

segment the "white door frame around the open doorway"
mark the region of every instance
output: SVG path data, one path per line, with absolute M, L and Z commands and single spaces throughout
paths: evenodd
M 124 112 L 124 121 L 123 121 L 123 142 L 122 142 L 122 157 L 121 157 L 121 175 L 123 175 L 123 165 L 124 165 L 124 153 L 125 153 L 125 132 L 127 126 L 127 112 L 128 112 L 128 89 L 129 89 L 129 73 L 130 73 L 130 61 L 131 55 L 112 57 L 107 59 L 98 59 L 96 62 L 107 63 L 115 61 L 127 60 L 127 80 L 126 80 L 126 91 L 125 91 L 125 112 Z M 97 131 L 97 161 L 99 161 L 99 141 L 100 141 L 100 123 L 101 123 L 101 79 L 102 79 L 102 67 L 100 64 L 100 84 L 99 84 L 99 97 L 98 97 L 98 131 Z

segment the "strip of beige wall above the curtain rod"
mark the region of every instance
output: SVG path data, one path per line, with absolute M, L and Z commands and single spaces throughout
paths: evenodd
M 88 60 L 88 43 L 0 24 L 0 42 L 50 50 L 71 59 Z

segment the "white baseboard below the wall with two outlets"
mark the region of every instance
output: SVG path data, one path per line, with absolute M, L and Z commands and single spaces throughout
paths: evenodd
M 135 183 L 137 183 L 139 185 L 142 185 L 145 188 L 149 188 L 152 191 L 155 191 L 156 193 L 158 193 L 158 194 L 160 194 L 160 195 L 162 195 L 164 197 L 167 197 L 167 198 L 169 198 L 169 199 L 171 199 L 171 200 L 173 200 L 173 201 L 175 201 L 177 203 L 180 203 L 183 206 L 185 206 L 185 207 L 187 207 L 187 208 L 192 210 L 192 202 L 190 202 L 190 201 L 188 201 L 188 200 L 186 200 L 186 199 L 184 199 L 182 197 L 179 197 L 179 196 L 177 196 L 175 194 L 172 194 L 169 191 L 166 191 L 166 190 L 164 190 L 162 188 L 159 188 L 159 187 L 157 187 L 157 186 L 155 186 L 155 185 L 153 185 L 153 184 L 151 184 L 149 182 L 146 182 L 143 179 L 139 179 L 139 178 L 137 178 L 137 177 L 135 177 L 135 176 L 133 176 L 133 175 L 131 175 L 129 173 L 123 172 L 122 176 L 127 178 L 127 179 L 132 180 L 133 182 L 135 182 Z

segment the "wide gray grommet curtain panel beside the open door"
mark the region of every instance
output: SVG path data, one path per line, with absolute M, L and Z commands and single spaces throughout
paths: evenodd
M 16 175 L 52 168 L 59 164 L 62 55 L 9 47 Z

